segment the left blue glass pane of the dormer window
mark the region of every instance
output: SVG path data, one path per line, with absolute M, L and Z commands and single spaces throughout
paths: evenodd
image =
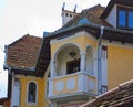
M 124 10 L 119 11 L 119 26 L 126 26 L 126 12 Z

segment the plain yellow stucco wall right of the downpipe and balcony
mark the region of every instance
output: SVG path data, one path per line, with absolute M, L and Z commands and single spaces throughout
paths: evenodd
M 108 71 L 109 89 L 133 79 L 133 49 L 109 46 Z

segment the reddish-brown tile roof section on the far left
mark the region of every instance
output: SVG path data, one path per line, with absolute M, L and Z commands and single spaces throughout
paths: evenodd
M 14 68 L 35 68 L 41 42 L 41 38 L 28 34 L 8 45 L 7 65 Z

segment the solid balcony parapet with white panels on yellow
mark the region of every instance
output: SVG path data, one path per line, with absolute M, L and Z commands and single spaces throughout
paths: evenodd
M 96 78 L 83 72 L 49 78 L 48 97 L 80 93 L 96 94 Z

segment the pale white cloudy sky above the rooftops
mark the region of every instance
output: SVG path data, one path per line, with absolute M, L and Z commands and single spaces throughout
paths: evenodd
M 62 26 L 61 9 L 81 12 L 98 3 L 106 6 L 109 0 L 0 0 L 0 97 L 6 97 L 7 72 L 3 71 L 4 45 L 31 34 L 43 36 Z

